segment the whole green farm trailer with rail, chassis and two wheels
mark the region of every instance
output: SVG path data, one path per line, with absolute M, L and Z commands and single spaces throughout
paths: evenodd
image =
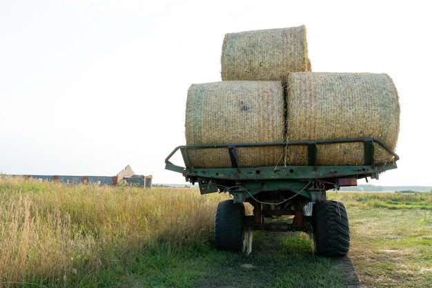
M 364 164 L 355 166 L 317 165 L 317 148 L 321 144 L 360 142 L 364 146 Z M 375 162 L 375 144 L 392 155 L 393 161 Z M 240 167 L 236 150 L 254 146 L 307 146 L 307 165 Z M 224 148 L 231 166 L 194 168 L 189 151 Z M 173 164 L 181 153 L 184 166 Z M 396 169 L 399 156 L 384 142 L 375 138 L 273 142 L 254 144 L 217 144 L 177 146 L 166 157 L 166 169 L 181 173 L 187 182 L 198 183 L 201 194 L 225 192 L 230 200 L 219 202 L 215 213 L 217 249 L 251 253 L 252 232 L 304 231 L 311 236 L 314 253 L 322 256 L 344 256 L 350 246 L 348 215 L 342 202 L 326 199 L 326 191 L 342 186 L 356 186 L 357 180 L 378 179 L 380 173 Z M 245 215 L 244 203 L 253 207 Z

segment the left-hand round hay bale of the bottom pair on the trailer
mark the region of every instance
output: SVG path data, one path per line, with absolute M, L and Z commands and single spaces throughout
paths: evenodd
M 284 94 L 278 81 L 193 84 L 186 100 L 186 144 L 283 142 Z M 195 168 L 231 167 L 228 148 L 189 149 Z M 240 167 L 283 163 L 284 147 L 237 148 Z

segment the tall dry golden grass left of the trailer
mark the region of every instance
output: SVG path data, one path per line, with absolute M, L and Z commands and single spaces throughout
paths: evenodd
M 213 238 L 224 195 L 63 185 L 0 175 L 0 287 L 78 286 L 112 262 Z

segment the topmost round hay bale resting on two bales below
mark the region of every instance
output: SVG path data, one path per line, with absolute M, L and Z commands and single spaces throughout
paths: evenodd
M 311 71 L 306 27 L 255 30 L 225 35 L 222 81 L 284 81 L 289 72 Z

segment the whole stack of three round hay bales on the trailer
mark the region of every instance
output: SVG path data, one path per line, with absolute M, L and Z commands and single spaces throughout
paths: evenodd
M 186 145 L 373 137 L 395 149 L 400 106 L 388 75 L 314 73 L 306 28 L 225 35 L 222 81 L 193 84 Z M 361 142 L 320 144 L 318 165 L 363 165 Z M 231 167 L 227 148 L 189 150 L 195 168 Z M 237 148 L 240 167 L 307 165 L 307 146 Z M 393 156 L 375 144 L 375 163 Z

